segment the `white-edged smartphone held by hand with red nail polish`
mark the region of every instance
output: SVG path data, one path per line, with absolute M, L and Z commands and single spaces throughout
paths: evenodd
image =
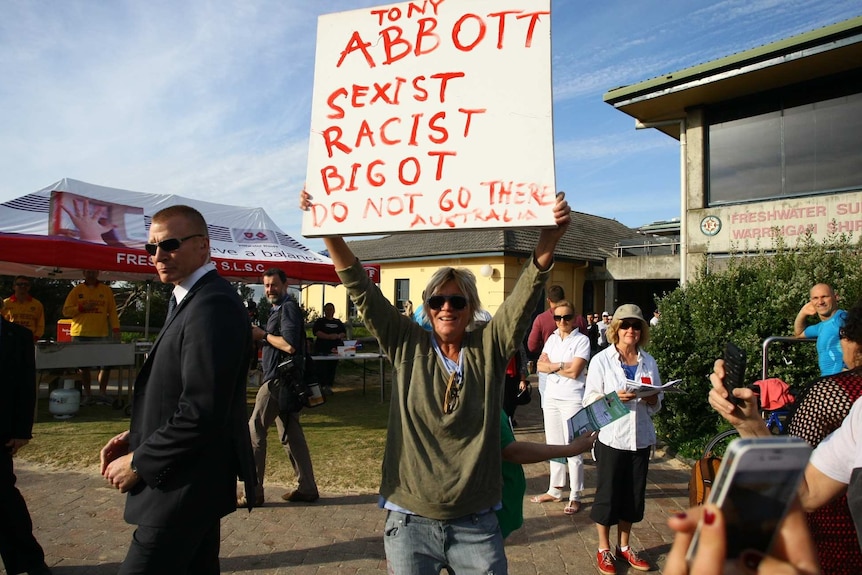
M 808 443 L 790 436 L 743 438 L 728 446 L 708 500 L 724 513 L 725 569 L 746 549 L 769 553 L 810 455 Z M 689 561 L 699 536 L 700 527 L 688 548 Z

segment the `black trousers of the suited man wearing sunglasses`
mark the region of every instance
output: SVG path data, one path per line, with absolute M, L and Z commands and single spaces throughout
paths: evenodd
M 139 525 L 120 575 L 216 575 L 220 519 L 171 527 Z

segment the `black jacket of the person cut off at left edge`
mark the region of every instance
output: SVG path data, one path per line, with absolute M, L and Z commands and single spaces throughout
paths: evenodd
M 0 318 L 0 444 L 33 437 L 36 350 L 33 332 Z

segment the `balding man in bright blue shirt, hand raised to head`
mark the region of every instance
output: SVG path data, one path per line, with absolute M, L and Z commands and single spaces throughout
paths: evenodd
M 814 315 L 820 322 L 806 327 L 808 318 Z M 839 332 L 844 327 L 846 315 L 847 312 L 838 309 L 838 296 L 828 284 L 812 287 L 808 303 L 796 314 L 793 334 L 798 338 L 817 338 L 817 360 L 820 363 L 821 376 L 844 370 Z

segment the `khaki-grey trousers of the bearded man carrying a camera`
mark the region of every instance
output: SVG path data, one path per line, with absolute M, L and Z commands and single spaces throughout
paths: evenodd
M 251 433 L 251 449 L 254 453 L 254 465 L 257 468 L 257 495 L 263 495 L 263 476 L 266 470 L 266 433 L 272 422 L 278 429 L 278 437 L 284 446 L 284 451 L 290 458 L 293 470 L 299 482 L 297 489 L 302 493 L 317 493 L 317 483 L 314 481 L 314 469 L 311 467 L 311 455 L 305 434 L 299 424 L 299 412 L 286 416 L 283 421 L 278 414 L 278 399 L 269 391 L 269 382 L 260 386 L 254 401 L 254 411 L 248 420 L 248 430 Z M 285 426 L 287 436 L 285 438 Z

